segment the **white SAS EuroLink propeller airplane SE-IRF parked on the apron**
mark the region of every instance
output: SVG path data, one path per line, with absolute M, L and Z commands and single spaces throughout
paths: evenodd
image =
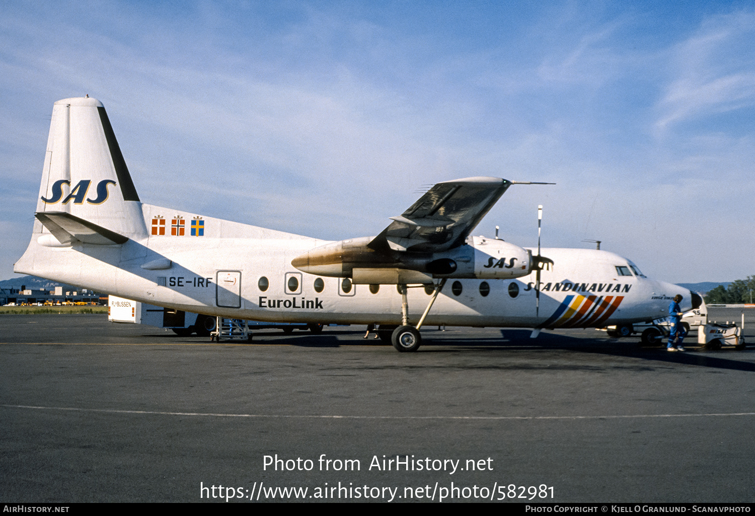
M 14 271 L 226 318 L 375 324 L 402 352 L 418 349 L 423 324 L 621 333 L 677 293 L 683 311 L 701 303 L 614 253 L 470 236 L 512 184 L 438 183 L 379 235 L 322 241 L 143 204 L 102 103 L 59 100 Z

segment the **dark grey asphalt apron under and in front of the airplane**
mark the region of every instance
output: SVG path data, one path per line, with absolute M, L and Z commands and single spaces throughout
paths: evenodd
M 363 332 L 0 315 L 0 501 L 753 501 L 753 349 L 427 328 L 399 353 Z

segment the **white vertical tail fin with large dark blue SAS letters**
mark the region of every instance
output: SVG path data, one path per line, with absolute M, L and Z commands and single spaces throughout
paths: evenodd
M 146 236 L 139 195 L 99 100 L 55 103 L 36 217 L 34 232 L 51 231 L 58 240 L 61 220 L 79 220 L 100 235 L 114 233 L 113 242 L 118 235 Z

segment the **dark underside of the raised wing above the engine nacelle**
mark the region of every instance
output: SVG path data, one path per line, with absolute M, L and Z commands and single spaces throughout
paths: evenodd
M 373 250 L 437 253 L 464 244 L 467 236 L 511 186 L 498 177 L 467 177 L 438 183 L 377 235 Z

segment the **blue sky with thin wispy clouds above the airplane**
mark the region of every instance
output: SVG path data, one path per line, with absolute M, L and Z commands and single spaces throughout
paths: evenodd
M 513 186 L 476 234 L 675 282 L 755 274 L 751 2 L 4 2 L 0 278 L 55 100 L 108 110 L 142 201 L 375 235 L 442 180 Z

